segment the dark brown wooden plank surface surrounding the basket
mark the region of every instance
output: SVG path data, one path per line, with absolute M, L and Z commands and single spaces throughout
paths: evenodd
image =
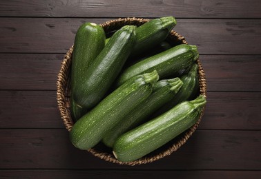
M 260 178 L 261 3 L 0 1 L 0 178 Z M 81 23 L 174 16 L 206 73 L 202 123 L 179 150 L 123 166 L 73 147 L 56 101 Z

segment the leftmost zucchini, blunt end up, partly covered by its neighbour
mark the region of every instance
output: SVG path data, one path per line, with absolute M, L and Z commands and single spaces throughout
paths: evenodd
M 70 83 L 70 112 L 74 120 L 79 118 L 82 108 L 72 98 L 74 93 L 79 93 L 90 63 L 95 60 L 105 45 L 105 32 L 96 23 L 82 24 L 75 35 L 75 43 L 72 53 L 72 69 Z

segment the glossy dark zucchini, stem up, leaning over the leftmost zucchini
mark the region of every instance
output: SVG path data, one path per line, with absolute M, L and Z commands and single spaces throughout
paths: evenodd
M 88 68 L 82 87 L 74 93 L 73 98 L 78 105 L 90 109 L 104 98 L 133 50 L 136 42 L 135 29 L 134 25 L 125 25 L 113 34 Z

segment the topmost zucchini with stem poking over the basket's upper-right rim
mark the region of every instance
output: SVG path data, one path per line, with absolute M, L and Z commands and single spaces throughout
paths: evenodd
M 176 24 L 174 17 L 162 17 L 140 25 L 136 30 L 137 43 L 131 56 L 142 54 L 164 41 Z M 109 39 L 106 39 L 106 42 L 108 41 Z

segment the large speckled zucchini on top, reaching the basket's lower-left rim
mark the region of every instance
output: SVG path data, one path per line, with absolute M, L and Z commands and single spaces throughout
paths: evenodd
M 124 114 L 142 103 L 153 91 L 159 76 L 156 71 L 135 76 L 106 96 L 90 112 L 82 116 L 69 133 L 70 141 L 79 149 L 90 149 L 113 129 Z

